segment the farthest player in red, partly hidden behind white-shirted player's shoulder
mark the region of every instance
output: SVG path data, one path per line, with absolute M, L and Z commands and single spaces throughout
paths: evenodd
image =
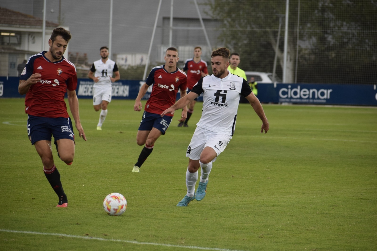
M 207 63 L 201 59 L 201 55 L 202 48 L 200 46 L 196 46 L 194 48 L 194 58 L 187 59 L 185 66 L 183 67 L 183 70 L 187 73 L 187 93 L 191 91 L 191 89 L 194 87 L 196 82 L 199 81 L 200 78 L 208 75 Z M 194 111 L 196 100 L 198 100 L 198 98 L 192 100 L 192 102 L 189 103 L 189 109 L 187 110 L 187 119 L 184 122 L 180 122 L 178 124 L 178 127 L 188 126 L 187 122 L 189 121 Z

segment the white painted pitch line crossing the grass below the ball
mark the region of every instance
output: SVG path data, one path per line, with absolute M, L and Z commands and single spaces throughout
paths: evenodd
M 39 235 L 51 235 L 51 236 L 64 236 L 64 237 L 77 238 L 77 239 L 85 239 L 85 240 L 102 240 L 102 241 L 110 241 L 110 242 L 126 242 L 126 243 L 137 244 L 137 245 L 167 246 L 167 247 L 173 247 L 173 248 L 188 248 L 188 249 L 215 250 L 215 251 L 246 251 L 246 250 L 225 249 L 225 248 L 204 248 L 204 247 L 201 247 L 201 246 L 181 246 L 181 245 L 154 243 L 154 242 L 137 242 L 137 241 L 134 241 L 134 240 L 104 239 L 104 238 L 98 238 L 98 237 L 79 236 L 79 235 L 71 235 L 71 234 L 40 233 L 40 232 L 33 232 L 33 231 L 17 231 L 17 230 L 8 230 L 8 229 L 0 229 L 0 232 L 19 233 L 19 234 L 39 234 Z

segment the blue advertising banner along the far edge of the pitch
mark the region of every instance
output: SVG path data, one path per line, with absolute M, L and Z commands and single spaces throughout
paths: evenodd
M 0 97 L 22 97 L 18 94 L 19 80 L 0 77 Z M 136 99 L 143 84 L 139 80 L 119 80 L 112 84 L 112 99 Z M 150 97 L 151 91 L 152 86 L 144 99 Z M 79 99 L 92 99 L 93 81 L 78 79 L 76 93 Z M 177 99 L 179 96 L 178 92 Z M 264 103 L 377 106 L 377 88 L 376 85 L 258 84 L 258 99 Z M 202 96 L 198 100 L 202 101 Z

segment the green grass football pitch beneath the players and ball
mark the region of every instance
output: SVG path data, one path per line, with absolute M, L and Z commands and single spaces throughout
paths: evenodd
M 132 173 L 142 149 L 134 100 L 113 100 L 97 131 L 99 113 L 83 99 L 87 141 L 76 135 L 71 166 L 53 149 L 69 200 L 56 208 L 27 137 L 23 101 L 0 99 L 0 250 L 377 249 L 375 107 L 265 104 L 270 130 L 260 134 L 261 121 L 240 104 L 207 196 L 181 208 L 185 151 L 202 103 L 188 128 L 173 118 L 141 172 Z M 112 192 L 127 199 L 122 216 L 103 210 Z

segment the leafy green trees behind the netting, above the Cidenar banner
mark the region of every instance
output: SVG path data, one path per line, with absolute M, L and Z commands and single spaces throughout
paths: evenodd
M 290 0 L 287 82 L 294 81 L 297 28 L 299 63 L 297 82 L 375 82 L 377 1 Z M 276 50 L 283 0 L 208 0 L 212 17 L 220 20 L 219 39 L 241 55 L 240 68 L 272 71 L 277 53 L 283 67 L 284 21 Z M 298 26 L 298 14 L 299 26 Z M 374 68 L 374 70 L 373 70 Z M 369 82 L 368 82 L 369 81 Z

